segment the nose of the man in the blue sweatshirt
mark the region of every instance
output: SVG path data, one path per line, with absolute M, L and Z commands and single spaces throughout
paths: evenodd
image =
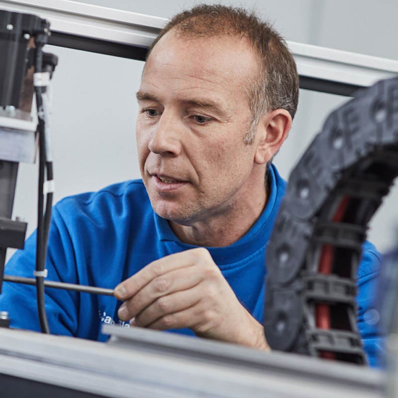
M 156 154 L 178 156 L 181 153 L 179 128 L 178 118 L 163 111 L 149 140 L 149 150 Z

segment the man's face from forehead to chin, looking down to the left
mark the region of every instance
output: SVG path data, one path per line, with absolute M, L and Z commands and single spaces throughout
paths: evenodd
M 237 37 L 156 44 L 137 94 L 139 165 L 153 209 L 183 225 L 231 212 L 250 195 L 255 144 L 244 143 L 255 55 Z

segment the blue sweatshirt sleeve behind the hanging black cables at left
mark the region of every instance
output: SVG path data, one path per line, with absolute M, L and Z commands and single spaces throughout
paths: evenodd
M 11 257 L 4 273 L 33 278 L 35 255 L 36 231 L 26 240 L 24 249 Z M 72 241 L 57 206 L 53 208 L 46 269 L 46 280 L 78 282 Z M 45 307 L 51 333 L 76 334 L 79 308 L 79 295 L 76 292 L 45 288 Z M 11 327 L 40 330 L 34 286 L 3 282 L 0 310 L 8 311 Z

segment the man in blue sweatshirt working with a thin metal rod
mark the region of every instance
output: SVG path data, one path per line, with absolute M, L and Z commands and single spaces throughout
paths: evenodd
M 298 103 L 286 44 L 244 10 L 197 6 L 151 47 L 137 100 L 142 182 L 59 202 L 46 265 L 51 280 L 117 285 L 120 301 L 47 289 L 50 329 L 104 341 L 101 321 L 116 322 L 269 350 L 264 257 L 286 185 L 271 161 Z M 34 240 L 8 273 L 31 273 Z M 365 249 L 360 300 L 378 267 Z M 14 326 L 38 329 L 33 297 L 4 286 L 0 305 Z M 373 363 L 368 306 L 360 302 L 359 326 Z

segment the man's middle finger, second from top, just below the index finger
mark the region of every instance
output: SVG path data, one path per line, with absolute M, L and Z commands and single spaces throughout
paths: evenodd
M 166 297 L 172 293 L 193 288 L 198 285 L 202 279 L 203 276 L 194 266 L 174 270 L 158 276 L 120 306 L 118 311 L 119 319 L 131 319 L 162 296 L 165 297 L 166 301 Z M 162 301 L 160 302 L 162 303 Z

